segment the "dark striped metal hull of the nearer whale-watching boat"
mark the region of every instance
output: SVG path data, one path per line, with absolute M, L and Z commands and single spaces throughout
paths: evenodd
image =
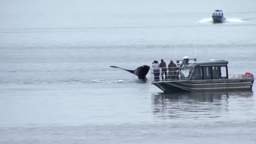
M 164 92 L 251 91 L 252 79 L 174 80 L 152 82 Z

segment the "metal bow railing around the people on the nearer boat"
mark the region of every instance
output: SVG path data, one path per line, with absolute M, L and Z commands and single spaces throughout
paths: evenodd
M 189 80 L 193 73 L 193 68 L 187 67 L 168 67 L 159 69 L 150 69 L 151 81 L 181 81 Z

